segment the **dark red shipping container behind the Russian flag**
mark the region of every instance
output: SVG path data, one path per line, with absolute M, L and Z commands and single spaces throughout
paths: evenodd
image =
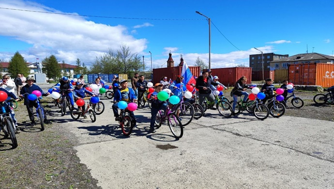
M 200 67 L 199 66 L 188 66 L 190 72 L 193 76 L 200 76 Z M 164 68 L 156 68 L 153 69 L 153 83 L 160 82 L 162 77 L 167 77 L 171 80 L 175 80 L 177 76 L 181 76 L 182 66 L 175 66 L 175 67 L 164 67 Z

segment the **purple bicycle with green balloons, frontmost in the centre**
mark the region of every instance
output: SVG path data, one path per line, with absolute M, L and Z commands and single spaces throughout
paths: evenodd
M 183 125 L 180 118 L 176 115 L 176 113 L 171 111 L 168 106 L 164 113 L 162 110 L 158 111 L 155 118 L 155 125 L 159 128 L 165 121 L 167 121 L 169 129 L 174 137 L 180 139 L 183 136 Z

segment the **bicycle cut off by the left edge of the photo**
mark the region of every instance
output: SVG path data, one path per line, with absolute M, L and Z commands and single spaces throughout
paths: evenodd
M 11 99 L 11 100 L 5 101 L 4 103 L 14 102 L 14 101 L 15 100 Z M 17 140 L 16 140 L 15 127 L 14 127 L 13 119 L 12 119 L 10 113 L 6 111 L 5 107 L 3 107 L 3 102 L 0 103 L 0 106 L 1 106 L 1 110 L 2 110 L 2 112 L 0 114 L 1 130 L 4 133 L 4 139 L 7 139 L 8 136 L 10 136 L 11 141 L 12 141 L 13 149 L 15 149 L 18 146 L 18 144 L 17 144 Z

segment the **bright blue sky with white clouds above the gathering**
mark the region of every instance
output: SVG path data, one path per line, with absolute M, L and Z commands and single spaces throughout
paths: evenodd
M 169 52 L 174 65 L 181 55 L 188 66 L 197 57 L 209 64 L 205 16 L 211 68 L 249 66 L 260 51 L 332 56 L 332 7 L 333 0 L 0 0 L 0 60 L 18 51 L 30 63 L 55 55 L 89 67 L 126 45 L 144 56 L 146 70 L 166 67 Z

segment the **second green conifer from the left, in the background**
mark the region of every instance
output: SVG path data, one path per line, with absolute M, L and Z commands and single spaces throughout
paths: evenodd
M 49 79 L 56 80 L 61 77 L 61 66 L 59 65 L 57 58 L 55 55 L 51 55 L 50 57 L 46 57 L 43 61 L 43 72 L 46 73 L 46 77 Z

